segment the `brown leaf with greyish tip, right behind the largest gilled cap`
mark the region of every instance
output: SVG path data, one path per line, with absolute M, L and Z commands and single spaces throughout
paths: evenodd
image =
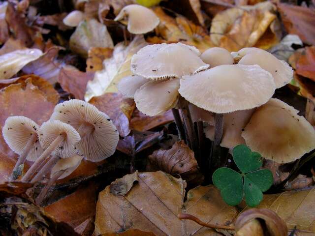
M 120 93 L 109 92 L 93 97 L 89 102 L 111 118 L 120 136 L 126 137 L 129 134 L 129 120 L 135 108 L 133 99 L 123 98 Z

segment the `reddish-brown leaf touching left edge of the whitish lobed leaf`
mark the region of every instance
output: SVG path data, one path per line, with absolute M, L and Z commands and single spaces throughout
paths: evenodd
M 93 77 L 93 72 L 82 72 L 73 66 L 64 66 L 60 70 L 58 82 L 63 90 L 72 93 L 75 98 L 83 100 L 87 83 Z

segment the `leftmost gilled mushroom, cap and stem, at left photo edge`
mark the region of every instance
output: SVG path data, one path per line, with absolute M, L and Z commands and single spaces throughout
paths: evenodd
M 25 160 L 35 161 L 43 152 L 37 142 L 38 125 L 32 119 L 23 116 L 8 117 L 2 128 L 2 135 L 7 145 L 19 158 L 14 166 L 10 180 L 14 180 L 15 173 Z

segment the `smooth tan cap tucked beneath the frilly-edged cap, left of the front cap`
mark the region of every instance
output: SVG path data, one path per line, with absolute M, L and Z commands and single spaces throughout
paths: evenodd
M 134 94 L 138 110 L 148 116 L 162 115 L 176 106 L 179 79 L 149 81 Z

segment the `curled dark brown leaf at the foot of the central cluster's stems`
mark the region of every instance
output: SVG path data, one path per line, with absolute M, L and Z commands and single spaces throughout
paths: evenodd
M 199 172 L 193 151 L 183 140 L 176 142 L 171 149 L 158 149 L 149 155 L 147 171 L 158 170 L 175 177 L 180 175 L 194 186 L 201 184 L 204 178 Z

